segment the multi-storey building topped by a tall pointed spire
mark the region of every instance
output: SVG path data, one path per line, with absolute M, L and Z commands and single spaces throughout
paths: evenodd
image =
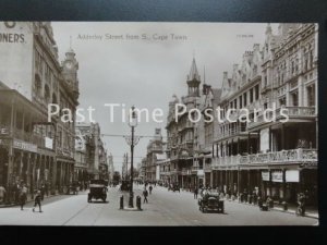
M 197 170 L 192 174 L 194 164 L 194 124 L 189 119 L 189 112 L 196 109 L 199 102 L 201 77 L 196 68 L 195 59 L 192 61 L 190 74 L 187 75 L 187 95 L 180 100 L 173 96 L 169 102 L 167 117 L 167 158 L 169 161 L 162 164 L 162 173 L 169 183 L 178 183 L 182 187 L 194 185 Z M 186 107 L 184 113 L 175 112 L 175 105 L 182 103 Z M 182 109 L 182 108 L 181 108 Z M 181 111 L 179 111 L 181 112 Z M 175 115 L 178 118 L 175 118 Z M 190 115 L 194 117 L 194 114 Z

